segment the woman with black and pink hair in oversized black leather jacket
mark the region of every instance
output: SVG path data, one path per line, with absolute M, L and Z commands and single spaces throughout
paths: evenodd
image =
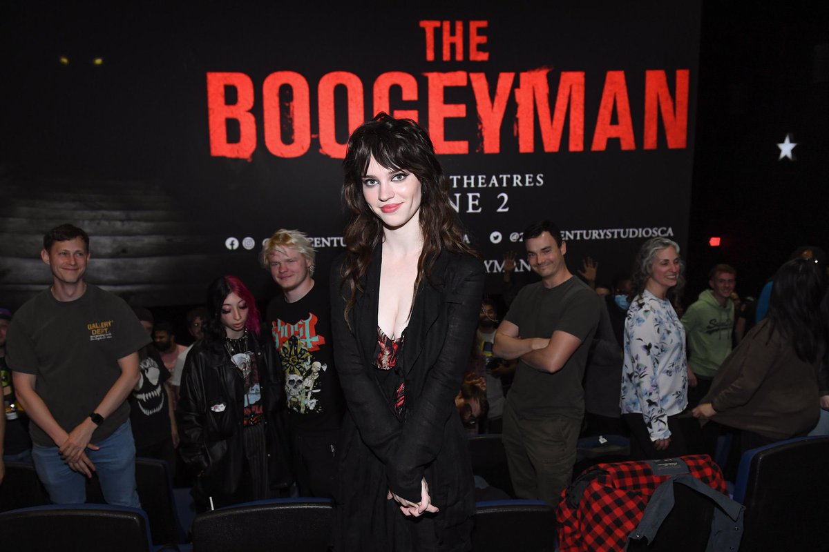
M 207 288 L 211 322 L 187 355 L 178 401 L 179 452 L 196 475 L 196 508 L 275 497 L 290 484 L 284 382 L 259 310 L 235 276 Z

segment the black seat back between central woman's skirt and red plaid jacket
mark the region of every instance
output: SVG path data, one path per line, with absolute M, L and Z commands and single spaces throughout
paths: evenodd
M 540 500 L 503 500 L 475 505 L 475 552 L 553 552 L 555 511 Z

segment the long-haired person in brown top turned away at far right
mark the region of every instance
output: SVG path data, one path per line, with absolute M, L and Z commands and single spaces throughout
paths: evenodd
M 744 452 L 805 435 L 820 414 L 827 360 L 827 274 L 812 258 L 786 262 L 774 276 L 768 316 L 716 373 L 693 415 L 737 430 Z

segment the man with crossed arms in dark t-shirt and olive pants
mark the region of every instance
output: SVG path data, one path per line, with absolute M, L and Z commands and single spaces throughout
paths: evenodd
M 599 295 L 567 269 L 567 244 L 555 223 L 531 224 L 524 245 L 541 281 L 519 291 L 495 334 L 493 352 L 519 359 L 503 443 L 516 495 L 556 504 L 573 476 Z

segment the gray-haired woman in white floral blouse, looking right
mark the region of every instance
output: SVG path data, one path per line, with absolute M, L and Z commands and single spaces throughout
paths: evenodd
M 687 453 L 676 420 L 688 403 L 685 329 L 671 305 L 684 284 L 682 269 L 679 246 L 667 238 L 647 240 L 633 266 L 619 406 L 634 460 Z

